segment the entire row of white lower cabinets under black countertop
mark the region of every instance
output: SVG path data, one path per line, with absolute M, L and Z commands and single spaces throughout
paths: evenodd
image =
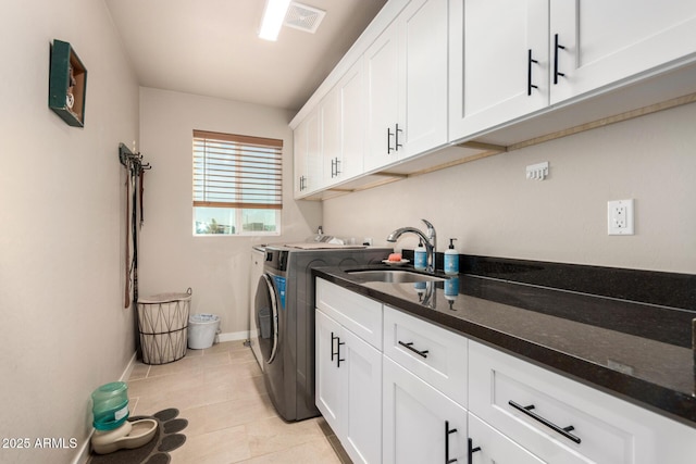
M 353 462 L 696 463 L 694 427 L 322 279 L 316 306 L 316 405 Z

